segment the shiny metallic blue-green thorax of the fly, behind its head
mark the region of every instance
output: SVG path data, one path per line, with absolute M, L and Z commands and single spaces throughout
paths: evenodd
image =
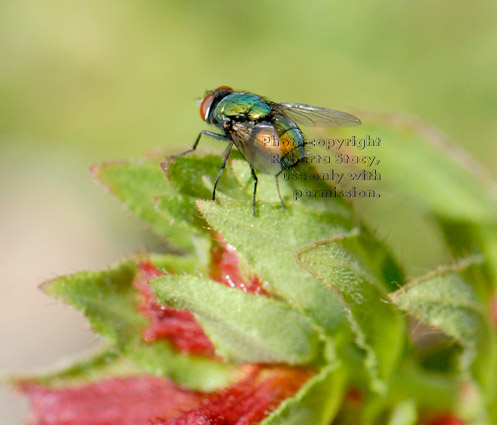
M 224 97 L 214 110 L 214 120 L 243 119 L 258 121 L 271 113 L 271 107 L 259 96 L 251 93 L 233 93 Z

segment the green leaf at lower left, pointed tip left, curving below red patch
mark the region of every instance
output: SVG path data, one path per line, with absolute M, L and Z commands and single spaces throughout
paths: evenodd
M 189 263 L 175 256 L 154 256 L 154 259 L 159 268 L 176 273 Z M 191 271 L 191 265 L 187 269 Z M 169 376 L 192 388 L 213 389 L 224 385 L 232 366 L 183 355 L 166 341 L 152 344 L 142 341 L 146 319 L 137 311 L 137 292 L 132 285 L 136 271 L 136 261 L 129 260 L 110 270 L 57 278 L 45 283 L 43 289 L 81 310 L 96 332 L 146 371 Z

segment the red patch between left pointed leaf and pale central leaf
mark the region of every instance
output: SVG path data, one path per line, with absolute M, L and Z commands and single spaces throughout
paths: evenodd
M 141 294 L 138 309 L 149 319 L 143 332 L 145 341 L 167 339 L 184 353 L 214 357 L 214 346 L 192 313 L 175 310 L 157 302 L 148 281 L 165 273 L 151 262 L 142 261 L 138 267 L 133 285 Z

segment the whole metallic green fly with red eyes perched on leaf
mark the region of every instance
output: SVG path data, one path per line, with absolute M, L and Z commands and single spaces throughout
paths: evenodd
M 253 214 L 257 175 L 255 170 L 275 176 L 276 188 L 282 206 L 278 176 L 295 167 L 306 155 L 305 139 L 299 124 L 310 127 L 346 127 L 360 125 L 353 115 L 333 109 L 319 108 L 302 103 L 274 103 L 253 93 L 236 92 L 221 86 L 205 94 L 200 105 L 200 117 L 221 133 L 202 130 L 192 148 L 179 155 L 193 152 L 202 134 L 228 143 L 221 169 L 214 183 L 212 200 L 216 200 L 216 187 L 228 161 L 231 149 L 236 146 L 250 165 L 254 178 Z

